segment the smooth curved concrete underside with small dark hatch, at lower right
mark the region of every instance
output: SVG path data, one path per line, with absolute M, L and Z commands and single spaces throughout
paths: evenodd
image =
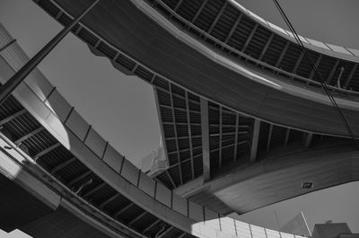
M 355 149 L 336 146 L 268 158 L 241 170 L 229 172 L 228 169 L 223 177 L 205 183 L 204 189 L 191 199 L 212 209 L 225 208 L 220 204 L 218 207 L 208 204 L 210 198 L 215 197 L 243 214 L 308 192 L 358 181 L 358 172 L 358 153 Z M 307 181 L 313 182 L 313 187 L 302 190 L 302 182 Z

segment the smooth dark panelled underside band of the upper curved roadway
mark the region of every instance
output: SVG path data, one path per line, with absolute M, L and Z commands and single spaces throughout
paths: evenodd
M 57 2 L 77 15 L 92 1 Z M 129 1 L 101 1 L 83 22 L 145 66 L 194 93 L 279 125 L 346 136 L 346 128 L 330 104 L 256 83 L 216 64 L 174 38 Z M 358 134 L 359 112 L 343 111 Z

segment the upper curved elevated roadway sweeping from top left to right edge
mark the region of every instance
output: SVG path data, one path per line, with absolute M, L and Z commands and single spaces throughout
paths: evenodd
M 63 24 L 70 22 L 73 15 L 91 3 L 68 0 L 36 2 Z M 177 10 L 173 4 L 176 1 L 149 2 L 103 0 L 74 29 L 74 33 L 88 43 L 95 54 L 109 57 L 118 69 L 139 75 L 155 86 L 170 81 L 210 101 L 276 125 L 347 136 L 337 112 L 318 89 L 318 82 L 315 82 L 308 63 L 302 60 L 288 33 L 285 37 L 282 36 L 284 33 L 281 35 L 280 32 L 271 31 L 269 27 L 262 26 L 258 18 L 255 20 L 253 14 L 241 13 L 243 10 L 232 2 L 178 1 L 180 5 Z M 184 6 L 186 3 L 187 8 Z M 190 3 L 195 6 L 191 8 Z M 172 12 L 169 8 L 173 9 Z M 186 18 L 180 15 L 187 13 L 188 9 L 193 10 L 188 12 L 191 16 Z M 222 39 L 222 42 L 219 36 L 213 35 L 220 29 L 222 23 L 219 21 L 230 14 L 226 10 L 238 18 L 237 23 L 234 22 L 235 27 L 232 27 L 234 33 L 229 34 L 234 39 L 227 36 L 229 40 L 225 42 Z M 212 22 L 213 27 L 205 30 L 204 22 Z M 237 31 L 238 34 L 235 34 Z M 197 35 L 196 39 L 193 34 Z M 268 45 L 262 35 L 271 39 L 267 40 Z M 237 41 L 243 41 L 238 46 L 234 43 L 236 37 Z M 280 43 L 275 43 L 277 41 Z M 355 92 L 357 51 L 332 46 L 335 51 L 326 44 L 306 41 L 321 73 L 326 75 L 330 84 L 336 81 L 337 67 L 345 66 L 343 85 L 347 89 L 339 89 L 335 85 L 332 89 L 337 92 L 337 103 L 355 135 L 358 134 L 359 124 L 356 122 L 359 114 Z M 282 47 L 276 51 L 273 44 Z M 254 55 L 253 52 L 258 50 L 264 53 Z M 292 78 L 294 83 L 288 80 Z M 299 84 L 296 83 L 298 80 Z

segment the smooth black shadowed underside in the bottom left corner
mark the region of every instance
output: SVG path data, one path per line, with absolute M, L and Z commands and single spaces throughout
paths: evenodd
M 109 237 L 63 207 L 52 210 L 38 198 L 0 174 L 0 228 L 14 229 L 34 238 Z

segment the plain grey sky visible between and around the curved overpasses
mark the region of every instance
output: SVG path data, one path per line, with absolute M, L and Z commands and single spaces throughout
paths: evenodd
M 269 22 L 285 27 L 272 1 L 237 0 Z M 297 32 L 311 39 L 359 48 L 359 1 L 280 1 Z M 29 0 L 0 0 L 0 22 L 29 56 L 62 27 Z M 156 149 L 160 140 L 153 88 L 123 75 L 109 60 L 95 57 L 72 34 L 55 48 L 39 69 L 84 119 L 133 163 Z M 359 233 L 359 182 L 313 192 L 250 212 L 239 219 L 272 229 L 303 211 L 312 229 L 327 220 L 346 222 Z M 18 232 L 0 237 L 19 238 Z

